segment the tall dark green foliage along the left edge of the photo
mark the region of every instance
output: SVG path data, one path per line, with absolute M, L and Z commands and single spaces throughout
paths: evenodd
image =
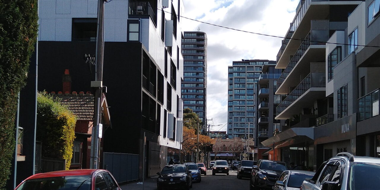
M 0 189 L 10 174 L 17 98 L 37 38 L 36 5 L 36 0 L 0 1 Z

